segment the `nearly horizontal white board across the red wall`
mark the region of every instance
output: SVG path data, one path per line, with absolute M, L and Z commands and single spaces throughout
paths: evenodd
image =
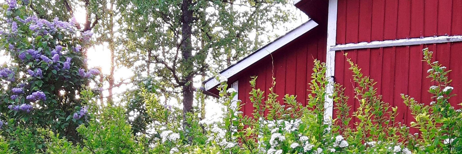
M 439 37 L 422 37 L 422 38 L 405 38 L 399 40 L 386 40 L 386 41 L 372 41 L 361 43 L 347 43 L 339 44 L 330 47 L 330 51 L 348 50 L 348 49 L 365 49 L 365 48 L 380 48 L 392 46 L 405 46 L 405 45 L 418 45 L 418 44 L 432 44 L 432 43 L 447 43 L 462 41 L 462 36 L 439 36 Z

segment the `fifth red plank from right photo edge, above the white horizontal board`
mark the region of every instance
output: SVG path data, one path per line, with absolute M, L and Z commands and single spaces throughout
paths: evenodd
M 398 2 L 398 29 L 397 39 L 409 38 L 411 31 L 411 0 Z

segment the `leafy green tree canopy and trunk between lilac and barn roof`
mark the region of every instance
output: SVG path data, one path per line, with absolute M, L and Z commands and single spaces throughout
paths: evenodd
M 231 65 L 260 46 L 267 25 L 291 18 L 288 0 L 118 0 L 123 50 L 118 61 L 193 111 L 193 78 Z M 256 37 L 250 34 L 256 33 Z

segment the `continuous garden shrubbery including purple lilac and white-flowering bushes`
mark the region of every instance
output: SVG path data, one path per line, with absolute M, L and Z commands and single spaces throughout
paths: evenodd
M 0 154 L 462 153 L 462 112 L 449 102 L 455 95 L 450 71 L 433 62 L 428 49 L 423 61 L 431 67 L 427 73 L 434 85 L 428 92 L 436 101 L 422 104 L 402 94 L 415 118 L 410 126 L 396 121 L 397 108 L 382 100 L 377 82 L 347 59 L 358 85 L 351 98 L 339 84 L 332 95 L 326 93 L 332 83 L 325 64 L 315 60 L 306 106 L 297 96 L 274 93 L 274 78 L 264 96 L 255 87 L 255 76 L 249 92 L 254 111 L 244 115 L 242 102 L 233 99 L 236 90 L 224 81 L 217 99 L 224 114 L 217 121 L 203 119 L 199 107 L 183 115 L 179 108 L 160 104 L 155 87 L 146 81 L 128 100 L 129 105 L 142 104 L 142 120 L 150 124 L 133 133 L 132 125 L 138 125 L 125 116 L 127 107 L 98 105 L 98 91 L 86 86 L 99 74 L 85 67 L 91 32 L 76 31 L 73 21 L 30 15 L 18 5 L 22 2 L 7 0 L 3 6 L 11 26 L 1 31 L 0 46 L 12 61 L 0 70 Z M 326 97 L 336 104 L 335 119 L 324 118 Z M 351 115 L 348 99 L 360 103 Z M 352 118 L 358 121 L 351 123 Z M 410 134 L 410 127 L 419 133 Z

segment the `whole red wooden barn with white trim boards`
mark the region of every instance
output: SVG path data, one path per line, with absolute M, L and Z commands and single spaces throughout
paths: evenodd
M 237 99 L 246 103 L 244 114 L 253 111 L 248 93 L 254 75 L 258 76 L 257 88 L 267 94 L 274 72 L 276 93 L 297 95 L 299 102 L 306 103 L 313 59 L 326 62 L 327 76 L 344 85 L 352 98 L 352 72 L 344 52 L 365 75 L 378 81 L 379 94 L 398 106 L 397 119 L 402 123 L 413 118 L 401 93 L 421 103 L 432 101 L 427 92 L 432 86 L 426 78 L 429 66 L 421 62 L 424 48 L 434 51 L 436 61 L 453 70 L 451 85 L 459 95 L 450 101 L 453 105 L 462 101 L 462 0 L 295 0 L 295 6 L 311 20 L 220 72 L 237 89 Z M 206 94 L 218 93 L 217 80 L 203 84 Z M 349 104 L 353 109 L 359 107 L 354 99 Z M 328 108 L 326 115 L 333 116 L 333 110 Z

